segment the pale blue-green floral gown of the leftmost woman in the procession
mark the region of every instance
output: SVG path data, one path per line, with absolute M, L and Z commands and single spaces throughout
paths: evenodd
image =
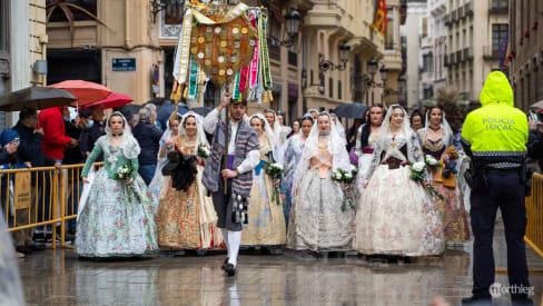
M 124 137 L 131 137 L 125 135 Z M 81 176 L 87 177 L 92 162 L 103 152 L 105 164 L 77 223 L 76 251 L 83 257 L 145 256 L 158 250 L 154 198 L 138 171 L 139 146 L 134 141 L 113 147 L 109 136 L 100 137 Z M 131 162 L 134 184 L 115 179 L 119 167 Z

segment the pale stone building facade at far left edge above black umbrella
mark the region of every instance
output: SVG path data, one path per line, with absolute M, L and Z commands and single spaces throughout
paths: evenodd
M 46 0 L 0 1 L 0 97 L 43 85 L 33 63 L 46 57 Z M 0 111 L 0 130 L 16 124 L 16 113 Z

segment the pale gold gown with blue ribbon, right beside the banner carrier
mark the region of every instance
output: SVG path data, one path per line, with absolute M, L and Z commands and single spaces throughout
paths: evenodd
M 283 200 L 279 193 L 275 194 L 275 182 L 264 169 L 265 164 L 272 162 L 269 156 L 273 150 L 266 136 L 264 139 L 260 141 L 260 164 L 253 170 L 247 210 L 249 221 L 241 235 L 243 246 L 282 246 L 286 243 Z

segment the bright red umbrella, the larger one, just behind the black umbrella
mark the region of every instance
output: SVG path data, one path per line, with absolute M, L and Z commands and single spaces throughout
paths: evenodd
M 79 99 L 78 105 L 85 106 L 88 103 L 92 103 L 99 100 L 106 99 L 106 97 L 111 93 L 107 87 L 96 83 L 96 82 L 88 82 L 82 80 L 69 80 L 62 81 L 58 83 L 50 85 L 48 87 L 52 88 L 61 88 L 66 91 L 73 95 L 76 98 Z

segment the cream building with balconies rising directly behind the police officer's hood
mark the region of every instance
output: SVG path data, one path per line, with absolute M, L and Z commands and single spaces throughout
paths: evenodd
M 478 102 L 486 76 L 500 69 L 500 46 L 509 31 L 507 1 L 448 1 L 447 85 L 463 99 Z

